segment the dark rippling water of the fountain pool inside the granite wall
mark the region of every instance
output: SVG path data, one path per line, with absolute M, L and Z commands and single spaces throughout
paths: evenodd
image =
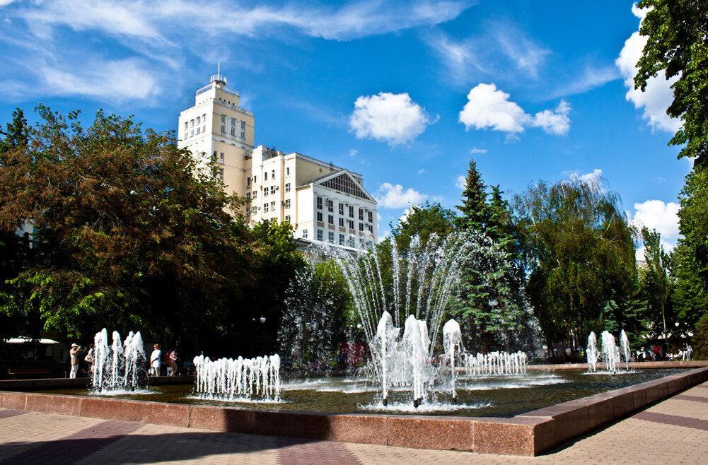
M 389 391 L 389 405 L 381 401 L 380 386 L 372 380 L 345 377 L 320 379 L 290 379 L 282 381 L 282 398 L 268 401 L 225 402 L 195 398 L 193 384 L 151 386 L 150 394 L 125 394 L 121 399 L 186 403 L 192 405 L 232 406 L 280 411 L 310 411 L 327 413 L 388 413 L 418 415 L 459 415 L 482 417 L 512 417 L 537 408 L 571 401 L 600 392 L 619 389 L 684 369 L 639 369 L 624 374 L 586 374 L 585 370 L 554 372 L 529 371 L 526 374 L 489 375 L 474 377 L 458 372 L 455 392 L 457 405 L 452 403 L 449 386 L 433 389 L 429 402 L 417 409 L 409 401 L 410 391 L 395 388 Z M 45 394 L 90 395 L 87 389 L 41 391 Z

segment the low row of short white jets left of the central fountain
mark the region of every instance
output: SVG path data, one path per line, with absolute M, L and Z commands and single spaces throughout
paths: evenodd
M 280 355 L 210 360 L 194 357 L 196 398 L 219 401 L 280 401 Z

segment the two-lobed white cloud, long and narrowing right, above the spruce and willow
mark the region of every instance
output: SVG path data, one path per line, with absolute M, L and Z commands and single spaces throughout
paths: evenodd
M 496 84 L 478 84 L 467 94 L 467 103 L 459 112 L 459 121 L 465 129 L 492 129 L 517 134 L 525 127 L 541 127 L 547 134 L 566 134 L 570 130 L 570 105 L 559 103 L 555 110 L 544 110 L 534 117 L 527 115 L 509 94 L 496 88 Z

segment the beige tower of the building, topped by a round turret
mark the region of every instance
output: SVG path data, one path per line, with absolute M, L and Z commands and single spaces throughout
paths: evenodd
M 180 113 L 178 147 L 192 151 L 202 166 L 213 161 L 228 194 L 244 195 L 246 152 L 253 150 L 253 113 L 239 107 L 239 93 L 224 89 L 217 71 L 200 88 L 194 106 Z

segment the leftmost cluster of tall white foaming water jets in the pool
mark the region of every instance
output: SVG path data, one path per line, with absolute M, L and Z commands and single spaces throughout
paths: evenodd
M 138 388 L 144 373 L 145 352 L 140 332 L 130 331 L 125 342 L 113 331 L 113 343 L 108 345 L 108 331 L 103 328 L 93 338 L 93 369 L 91 390 L 96 394 L 120 394 Z

